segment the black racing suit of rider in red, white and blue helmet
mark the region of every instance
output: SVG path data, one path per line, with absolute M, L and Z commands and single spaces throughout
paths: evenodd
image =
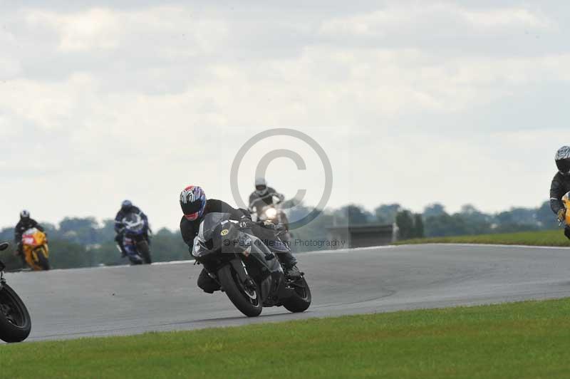
M 202 214 L 202 217 L 204 217 L 205 214 L 208 214 L 210 212 L 229 213 L 232 215 L 230 219 L 234 220 L 239 220 L 244 218 L 251 220 L 251 217 L 249 215 L 249 212 L 247 212 L 247 210 L 235 209 L 226 202 L 222 202 L 222 200 L 217 200 L 217 199 L 208 199 L 206 201 L 206 207 L 204 208 L 204 213 Z M 182 234 L 182 239 L 189 246 L 190 251 L 192 251 L 192 246 L 194 245 L 194 239 L 198 235 L 200 222 L 202 222 L 202 217 L 199 217 L 194 221 L 190 221 L 186 217 L 182 216 L 182 219 L 180 220 L 180 234 Z M 273 230 L 266 229 L 257 224 L 252 226 L 252 232 L 254 233 L 255 236 L 259 237 L 262 240 L 275 238 Z M 290 251 L 288 253 L 279 252 L 276 255 L 279 258 L 279 261 L 281 261 L 281 263 L 284 264 L 284 266 L 286 267 L 294 266 L 297 263 L 295 257 L 293 256 L 293 254 L 291 254 Z M 210 278 L 205 269 L 202 269 L 202 272 L 200 272 L 198 276 L 198 286 L 208 294 L 212 294 L 212 292 L 217 291 L 219 289 L 219 284 L 217 284 L 217 282 L 214 281 L 214 279 Z

